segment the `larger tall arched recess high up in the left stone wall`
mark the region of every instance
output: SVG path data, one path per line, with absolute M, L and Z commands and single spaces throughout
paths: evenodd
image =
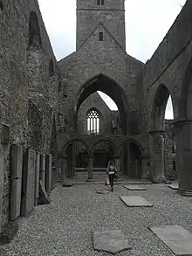
M 42 39 L 40 34 L 40 28 L 38 24 L 38 16 L 35 11 L 31 11 L 29 18 L 29 49 L 41 49 Z

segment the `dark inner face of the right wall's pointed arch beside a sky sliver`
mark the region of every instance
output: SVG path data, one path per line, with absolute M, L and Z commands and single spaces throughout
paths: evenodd
M 168 87 L 164 84 L 160 84 L 160 86 L 158 86 L 156 92 L 154 93 L 154 100 L 151 110 L 151 130 L 164 130 L 165 111 L 169 95 L 171 95 L 171 93 L 169 92 Z

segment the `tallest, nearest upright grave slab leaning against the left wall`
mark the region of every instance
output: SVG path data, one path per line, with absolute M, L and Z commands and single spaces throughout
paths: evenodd
M 10 148 L 10 220 L 20 216 L 23 169 L 23 147 L 13 144 Z

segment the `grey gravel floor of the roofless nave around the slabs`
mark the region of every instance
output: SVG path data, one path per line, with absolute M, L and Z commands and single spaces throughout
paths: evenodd
M 144 185 L 142 185 L 144 187 Z M 117 185 L 99 195 L 103 185 L 58 186 L 51 204 L 38 206 L 29 218 L 19 219 L 19 231 L 10 245 L 0 246 L 1 256 L 92 256 L 92 231 L 120 229 L 133 249 L 117 255 L 168 256 L 167 246 L 147 227 L 182 225 L 192 232 L 192 198 L 182 197 L 167 185 L 145 185 L 147 191 L 129 191 Z M 128 208 L 119 196 L 140 195 L 153 208 Z

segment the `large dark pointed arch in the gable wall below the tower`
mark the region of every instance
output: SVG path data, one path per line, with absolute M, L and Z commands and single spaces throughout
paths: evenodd
M 120 86 L 115 80 L 99 73 L 89 79 L 79 87 L 78 96 L 74 102 L 74 128 L 77 129 L 77 116 L 79 107 L 84 100 L 92 93 L 101 91 L 113 99 L 120 110 L 121 128 L 124 134 L 127 134 L 127 96 L 123 86 Z

